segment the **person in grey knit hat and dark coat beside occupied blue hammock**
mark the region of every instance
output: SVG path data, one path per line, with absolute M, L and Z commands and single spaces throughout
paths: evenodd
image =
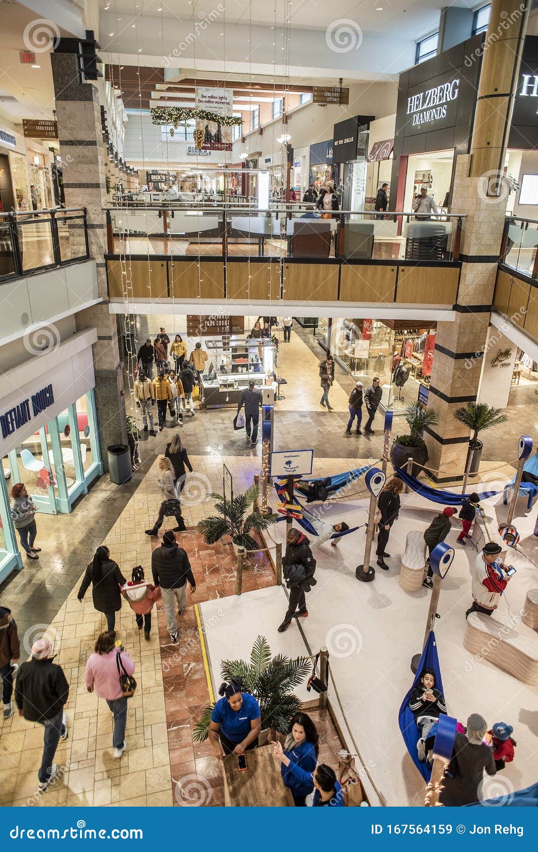
M 467 719 L 466 733 L 455 734 L 454 754 L 444 775 L 439 803 L 445 807 L 461 807 L 478 802 L 478 788 L 487 774 L 495 775 L 493 750 L 484 745 L 488 726 L 484 717 L 472 713 Z

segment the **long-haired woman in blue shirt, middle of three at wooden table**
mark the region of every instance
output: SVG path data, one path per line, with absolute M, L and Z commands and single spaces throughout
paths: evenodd
M 289 734 L 284 743 L 280 771 L 284 785 L 289 787 L 296 808 L 306 807 L 306 796 L 314 789 L 312 772 L 318 763 L 318 731 L 306 713 L 295 713 L 289 722 Z M 306 772 L 309 780 L 300 779 L 290 769 L 290 764 Z

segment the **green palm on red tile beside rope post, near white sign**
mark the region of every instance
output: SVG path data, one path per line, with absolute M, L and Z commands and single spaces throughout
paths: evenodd
M 278 515 L 261 515 L 255 509 L 249 511 L 257 493 L 257 487 L 252 486 L 232 500 L 227 500 L 221 494 L 211 494 L 219 515 L 204 518 L 198 523 L 198 533 L 203 535 L 205 544 L 216 544 L 220 538 L 228 535 L 232 538 L 232 544 L 244 547 L 245 550 L 258 550 L 260 544 L 250 535 L 250 531 L 260 533 L 266 530 L 278 521 Z

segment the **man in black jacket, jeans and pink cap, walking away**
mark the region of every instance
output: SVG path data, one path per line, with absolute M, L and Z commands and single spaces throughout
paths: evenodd
M 37 773 L 39 789 L 44 791 L 58 774 L 53 763 L 60 740 L 67 739 L 67 715 L 64 705 L 69 698 L 69 684 L 60 666 L 50 656 L 46 636 L 31 647 L 31 660 L 20 665 L 15 681 L 15 701 L 19 716 L 27 722 L 39 722 L 45 728 L 43 759 Z

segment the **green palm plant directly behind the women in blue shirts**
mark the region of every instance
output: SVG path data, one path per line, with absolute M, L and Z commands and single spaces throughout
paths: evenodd
M 225 659 L 220 664 L 222 679 L 230 682 L 243 678 L 243 690 L 254 695 L 261 711 L 261 728 L 272 728 L 280 734 L 288 733 L 289 719 L 301 709 L 300 699 L 293 693 L 312 671 L 308 657 L 289 659 L 282 653 L 272 657 L 265 636 L 258 636 L 249 663 L 243 659 Z M 209 736 L 209 722 L 215 704 L 206 707 L 203 717 L 194 727 L 192 740 L 203 742 Z

